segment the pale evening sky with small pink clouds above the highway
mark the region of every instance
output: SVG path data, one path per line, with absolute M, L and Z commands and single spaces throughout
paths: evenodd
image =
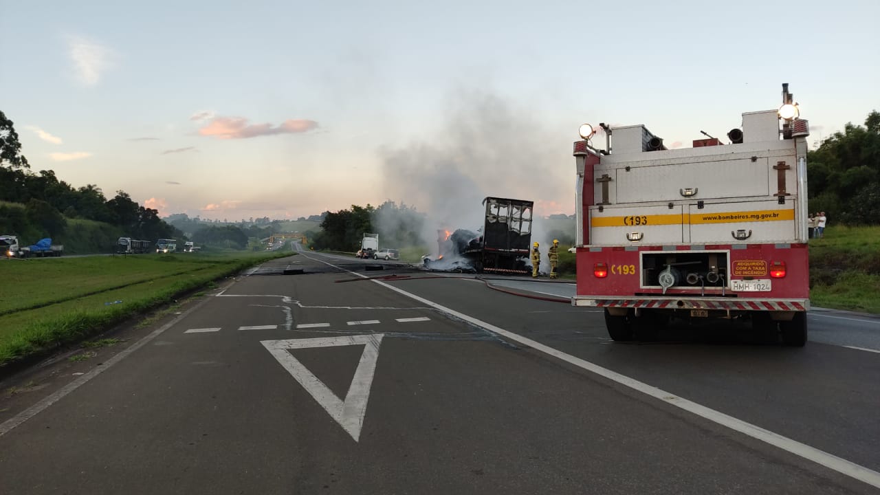
M 160 215 L 299 218 L 485 196 L 575 211 L 583 122 L 670 147 L 778 107 L 880 109 L 877 0 L 0 0 L 0 110 L 34 171 Z M 448 217 L 448 218 L 444 218 Z

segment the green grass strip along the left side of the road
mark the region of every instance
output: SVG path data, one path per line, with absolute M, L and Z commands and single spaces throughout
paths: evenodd
M 182 293 L 204 288 L 218 278 L 282 255 L 290 253 L 226 252 L 126 258 L 99 256 L 42 261 L 46 265 L 67 262 L 52 268 L 42 266 L 40 262 L 16 262 L 17 265 L 33 267 L 41 274 L 48 270 L 53 277 L 42 278 L 43 283 L 39 284 L 28 277 L 22 278 L 21 272 L 16 271 L 18 283 L 9 286 L 17 289 L 14 299 L 17 308 L 0 316 L 0 365 L 98 334 L 134 314 L 172 303 Z M 120 261 L 135 263 L 121 265 Z M 11 267 L 12 262 L 9 263 L 4 265 L 4 269 Z M 138 269 L 136 271 L 140 276 L 148 279 L 106 288 L 107 284 L 112 284 L 114 277 L 125 276 L 121 267 Z M 18 266 L 13 268 L 19 270 Z M 39 278 L 33 273 L 31 275 Z M 26 290 L 22 290 L 22 287 L 26 287 Z M 63 298 L 57 296 L 60 291 L 56 287 L 65 287 L 68 291 Z M 94 287 L 105 287 L 106 290 L 92 293 Z M 20 302 L 26 299 L 26 291 L 30 292 L 31 297 L 39 298 L 44 297 L 43 293 L 47 290 L 55 293 L 56 299 L 62 300 L 40 307 L 28 307 Z M 6 294 L 4 292 L 4 301 Z M 25 297 L 21 294 L 25 294 Z M 114 301 L 121 302 L 106 304 Z M 46 302 L 45 297 L 43 302 Z M 13 306 L 9 304 L 4 307 Z M 108 341 L 105 340 L 103 344 L 108 344 Z

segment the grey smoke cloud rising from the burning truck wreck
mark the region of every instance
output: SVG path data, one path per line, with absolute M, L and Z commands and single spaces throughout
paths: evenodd
M 574 139 L 548 129 L 535 109 L 481 90 L 455 92 L 447 108 L 430 140 L 380 150 L 385 195 L 427 213 L 422 242 L 432 252 L 436 229 L 480 228 L 486 196 L 571 201 Z M 544 230 L 536 216 L 532 239 L 544 241 Z

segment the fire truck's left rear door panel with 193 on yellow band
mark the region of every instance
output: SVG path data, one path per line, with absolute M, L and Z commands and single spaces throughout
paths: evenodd
M 590 206 L 590 244 L 638 246 L 640 244 L 678 244 L 686 241 L 682 228 L 685 205 Z

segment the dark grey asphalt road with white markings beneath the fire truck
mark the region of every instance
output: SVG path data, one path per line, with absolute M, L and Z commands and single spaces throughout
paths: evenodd
M 84 374 L 47 366 L 45 398 L 0 404 L 0 491 L 876 493 L 876 323 L 810 327 L 803 349 L 735 327 L 614 344 L 593 309 L 304 253 Z

